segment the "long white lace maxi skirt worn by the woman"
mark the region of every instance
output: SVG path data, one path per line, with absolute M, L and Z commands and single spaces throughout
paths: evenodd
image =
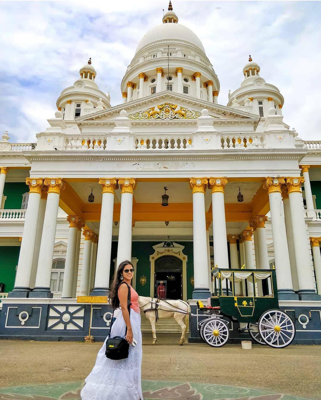
M 140 314 L 130 310 L 130 323 L 137 340 L 135 347 L 129 346 L 128 358 L 110 360 L 105 356 L 106 340 L 99 350 L 96 364 L 85 379 L 80 392 L 82 400 L 143 400 L 141 385 L 142 333 Z M 124 337 L 126 324 L 122 312 L 112 325 L 112 336 Z

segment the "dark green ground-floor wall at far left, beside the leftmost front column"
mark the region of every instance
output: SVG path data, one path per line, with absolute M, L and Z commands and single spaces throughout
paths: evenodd
M 20 246 L 0 246 L 0 282 L 4 283 L 4 292 L 10 292 L 16 277 Z

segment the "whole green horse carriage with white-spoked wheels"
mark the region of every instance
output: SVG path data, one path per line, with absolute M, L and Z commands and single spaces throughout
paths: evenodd
M 275 270 L 213 268 L 213 294 L 207 305 L 198 302 L 202 339 L 212 347 L 224 346 L 231 321 L 259 344 L 284 348 L 293 342 L 295 326 L 279 308 Z M 243 294 L 243 295 L 242 295 Z M 200 316 L 198 314 L 198 316 Z

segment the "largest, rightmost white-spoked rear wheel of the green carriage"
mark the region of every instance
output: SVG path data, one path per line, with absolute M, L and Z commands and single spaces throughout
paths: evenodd
M 259 332 L 266 344 L 274 348 L 289 346 L 295 337 L 292 319 L 281 310 L 263 312 L 259 319 Z

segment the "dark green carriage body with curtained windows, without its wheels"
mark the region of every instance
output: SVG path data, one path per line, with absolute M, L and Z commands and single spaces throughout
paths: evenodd
M 239 269 L 223 269 L 214 268 L 213 280 L 218 281 L 215 285 L 216 296 L 211 297 L 211 306 L 220 307 L 221 314 L 234 317 L 239 322 L 257 322 L 263 312 L 271 309 L 279 308 L 279 300 L 277 296 L 277 280 L 275 270 L 239 270 Z M 223 278 L 228 276 L 229 278 Z M 253 296 L 235 296 L 235 280 L 240 278 L 254 282 L 258 277 L 268 276 L 270 279 L 270 291 L 267 296 L 259 296 L 253 284 Z M 243 276 L 248 276 L 243 279 Z M 231 288 L 224 286 L 223 282 L 229 280 Z

